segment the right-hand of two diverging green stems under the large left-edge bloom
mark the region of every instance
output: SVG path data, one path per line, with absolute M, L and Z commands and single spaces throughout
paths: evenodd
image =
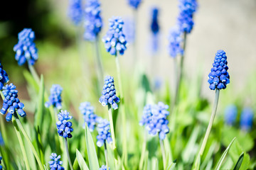
M 36 161 L 38 162 L 39 168 L 40 168 L 41 170 L 43 170 L 43 165 L 42 165 L 42 163 L 41 163 L 41 161 L 40 161 L 40 158 L 38 157 L 38 154 L 37 154 L 37 152 L 36 152 L 36 149 L 35 149 L 35 147 L 33 147 L 33 144 L 32 144 L 32 142 L 31 142 L 30 138 L 28 137 L 28 134 L 26 133 L 26 130 L 23 128 L 23 126 L 22 126 L 22 124 L 21 124 L 21 120 L 19 120 L 18 115 L 16 114 L 16 112 L 14 112 L 14 118 L 15 118 L 16 123 L 17 123 L 17 125 L 18 125 L 18 129 L 21 130 L 21 132 L 23 133 L 23 136 L 25 137 L 25 139 L 26 139 L 27 142 L 28 142 L 28 145 L 31 147 L 32 152 L 33 152 L 34 156 L 36 157 Z

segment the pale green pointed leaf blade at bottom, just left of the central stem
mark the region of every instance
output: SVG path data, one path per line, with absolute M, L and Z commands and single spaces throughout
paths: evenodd
M 88 154 L 90 169 L 100 169 L 96 150 L 95 150 L 95 145 L 93 143 L 92 135 L 90 134 L 90 130 L 87 127 L 87 125 L 85 127 L 85 142 L 87 147 L 87 154 Z

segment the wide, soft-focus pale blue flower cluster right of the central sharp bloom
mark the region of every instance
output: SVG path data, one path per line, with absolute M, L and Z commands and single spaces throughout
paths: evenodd
M 145 125 L 150 135 L 156 135 L 158 133 L 159 139 L 164 140 L 166 134 L 169 133 L 169 121 L 166 119 L 167 115 L 169 115 L 168 108 L 169 106 L 164 105 L 162 102 L 154 106 L 146 105 L 139 124 Z

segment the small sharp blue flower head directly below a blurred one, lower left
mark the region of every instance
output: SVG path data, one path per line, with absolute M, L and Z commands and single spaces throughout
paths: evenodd
M 71 132 L 73 132 L 73 128 L 71 128 L 72 123 L 68 120 L 72 119 L 73 117 L 69 115 L 68 111 L 60 111 L 58 113 L 58 122 L 56 123 L 57 129 L 58 129 L 58 134 L 61 137 L 64 138 L 71 138 Z

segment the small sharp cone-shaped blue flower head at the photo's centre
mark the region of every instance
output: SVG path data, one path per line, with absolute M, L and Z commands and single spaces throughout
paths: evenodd
M 118 108 L 117 103 L 119 103 L 120 99 L 117 97 L 116 90 L 114 89 L 114 77 L 106 76 L 104 81 L 102 96 L 99 101 L 102 106 L 111 104 L 112 108 L 116 110 Z

